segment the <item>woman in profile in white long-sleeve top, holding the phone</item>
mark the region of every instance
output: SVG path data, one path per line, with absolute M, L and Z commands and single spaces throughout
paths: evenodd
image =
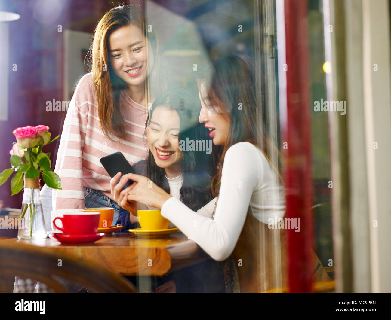
M 269 218 L 284 216 L 285 193 L 278 171 L 268 160 L 273 147 L 264 127 L 256 122 L 257 109 L 263 105 L 255 99 L 251 64 L 233 55 L 215 61 L 208 70 L 212 75 L 203 74 L 198 81 L 202 105 L 199 122 L 209 131 L 214 145 L 224 146 L 212 181 L 217 202 L 213 199 L 196 212 L 158 186 L 148 188 L 149 179 L 134 174 L 124 175 L 117 186 L 119 175 L 114 177 L 111 192 L 120 206 L 138 201 L 161 208 L 162 216 L 213 259 L 222 261 L 234 252 L 240 237 L 248 236 L 243 229 L 247 220 L 265 225 Z M 136 183 L 120 192 L 127 179 Z M 246 241 L 251 245 L 251 239 Z M 259 243 L 262 239 L 254 236 L 252 241 Z M 243 256 L 248 254 L 245 251 L 242 250 Z M 253 263 L 257 268 L 258 261 L 243 263 Z

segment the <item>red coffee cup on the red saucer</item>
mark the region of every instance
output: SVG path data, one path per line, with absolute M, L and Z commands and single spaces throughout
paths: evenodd
M 99 212 L 89 213 L 64 213 L 63 217 L 56 217 L 53 220 L 53 225 L 69 235 L 80 234 L 97 234 L 99 225 Z M 59 219 L 63 223 L 60 228 L 56 225 L 56 220 Z

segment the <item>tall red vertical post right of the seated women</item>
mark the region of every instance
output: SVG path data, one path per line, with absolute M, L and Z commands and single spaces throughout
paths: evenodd
M 285 0 L 287 127 L 284 132 L 287 218 L 301 230 L 287 230 L 290 292 L 312 292 L 312 177 L 308 73 L 308 2 Z

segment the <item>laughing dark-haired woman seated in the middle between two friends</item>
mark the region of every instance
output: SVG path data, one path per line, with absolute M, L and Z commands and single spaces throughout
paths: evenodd
M 211 217 L 211 182 L 215 173 L 212 141 L 198 122 L 199 99 L 185 88 L 163 92 L 152 104 L 147 119 L 147 160 L 136 163 L 136 173 L 145 175 L 199 215 Z M 201 148 L 200 148 L 201 147 Z M 140 204 L 127 202 L 117 224 L 127 232 L 138 221 Z M 151 208 L 151 207 L 150 207 Z M 224 290 L 223 274 L 215 263 L 200 265 L 154 277 L 158 292 L 209 292 Z M 136 282 L 134 278 L 131 281 Z

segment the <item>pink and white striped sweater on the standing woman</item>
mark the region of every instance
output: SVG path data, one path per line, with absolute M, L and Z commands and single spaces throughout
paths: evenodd
M 117 142 L 106 138 L 100 129 L 98 105 L 93 89 L 92 73 L 77 84 L 69 104 L 58 148 L 56 172 L 61 188 L 53 189 L 54 209 L 84 209 L 83 186 L 110 193 L 110 176 L 99 161 L 100 157 L 120 151 L 131 165 L 147 159 L 148 147 L 145 121 L 148 108 L 134 102 L 127 93 L 120 96 L 125 120 L 126 139 Z

